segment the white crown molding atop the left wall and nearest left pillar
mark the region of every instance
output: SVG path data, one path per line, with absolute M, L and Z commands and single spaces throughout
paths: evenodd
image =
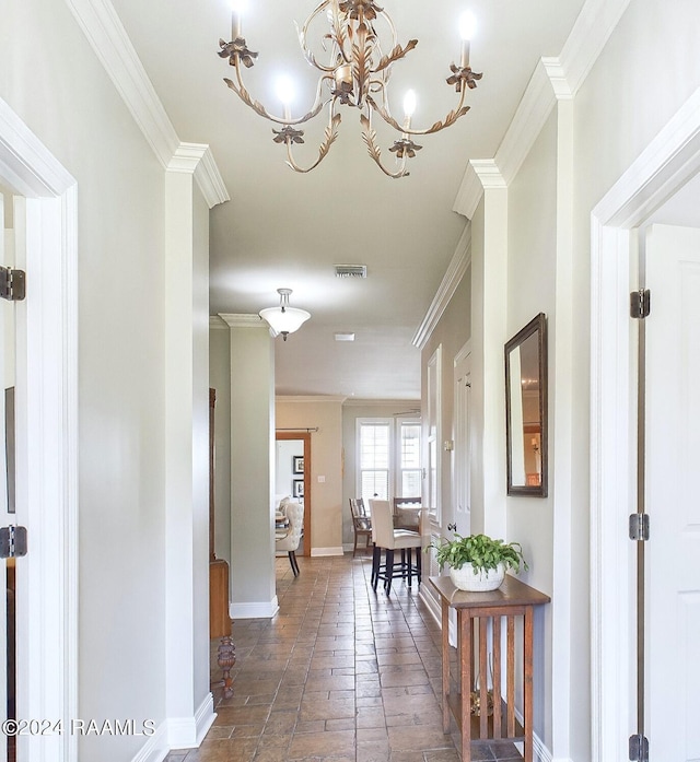
M 66 4 L 153 153 L 165 169 L 171 169 L 186 146 L 196 144 L 183 143 L 177 137 L 114 5 L 109 0 L 66 0 Z M 210 209 L 230 200 L 211 151 L 202 152 L 200 165 L 192 172 Z

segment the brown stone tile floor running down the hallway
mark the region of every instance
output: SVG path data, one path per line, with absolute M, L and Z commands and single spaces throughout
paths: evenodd
M 442 730 L 441 633 L 412 588 L 370 585 L 370 556 L 276 560 L 279 613 L 233 625 L 234 696 L 199 749 L 165 762 L 458 762 Z M 212 642 L 212 679 L 220 677 Z M 472 746 L 480 762 L 522 759 L 509 742 Z

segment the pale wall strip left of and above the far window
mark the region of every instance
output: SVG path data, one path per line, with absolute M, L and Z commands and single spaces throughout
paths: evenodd
M 410 418 L 406 411 L 420 408 L 420 400 L 398 400 L 395 402 L 372 402 L 370 400 L 347 401 L 342 406 L 342 546 L 352 549 L 354 532 L 350 516 L 350 497 L 358 495 L 358 444 L 357 424 L 359 418 Z M 420 411 L 416 413 L 420 417 Z M 362 541 L 360 541 L 361 544 Z M 358 548 L 360 548 L 360 544 Z

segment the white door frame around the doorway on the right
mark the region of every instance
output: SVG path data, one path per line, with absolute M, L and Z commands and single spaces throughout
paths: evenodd
M 637 731 L 635 402 L 629 317 L 634 228 L 700 171 L 700 89 L 595 207 L 591 219 L 592 759 L 627 759 Z

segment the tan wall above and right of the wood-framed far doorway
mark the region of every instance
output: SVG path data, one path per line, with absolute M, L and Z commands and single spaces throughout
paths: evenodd
M 311 554 L 342 553 L 342 403 L 339 398 L 278 397 L 278 429 L 311 433 Z M 323 479 L 324 481 L 319 481 Z

